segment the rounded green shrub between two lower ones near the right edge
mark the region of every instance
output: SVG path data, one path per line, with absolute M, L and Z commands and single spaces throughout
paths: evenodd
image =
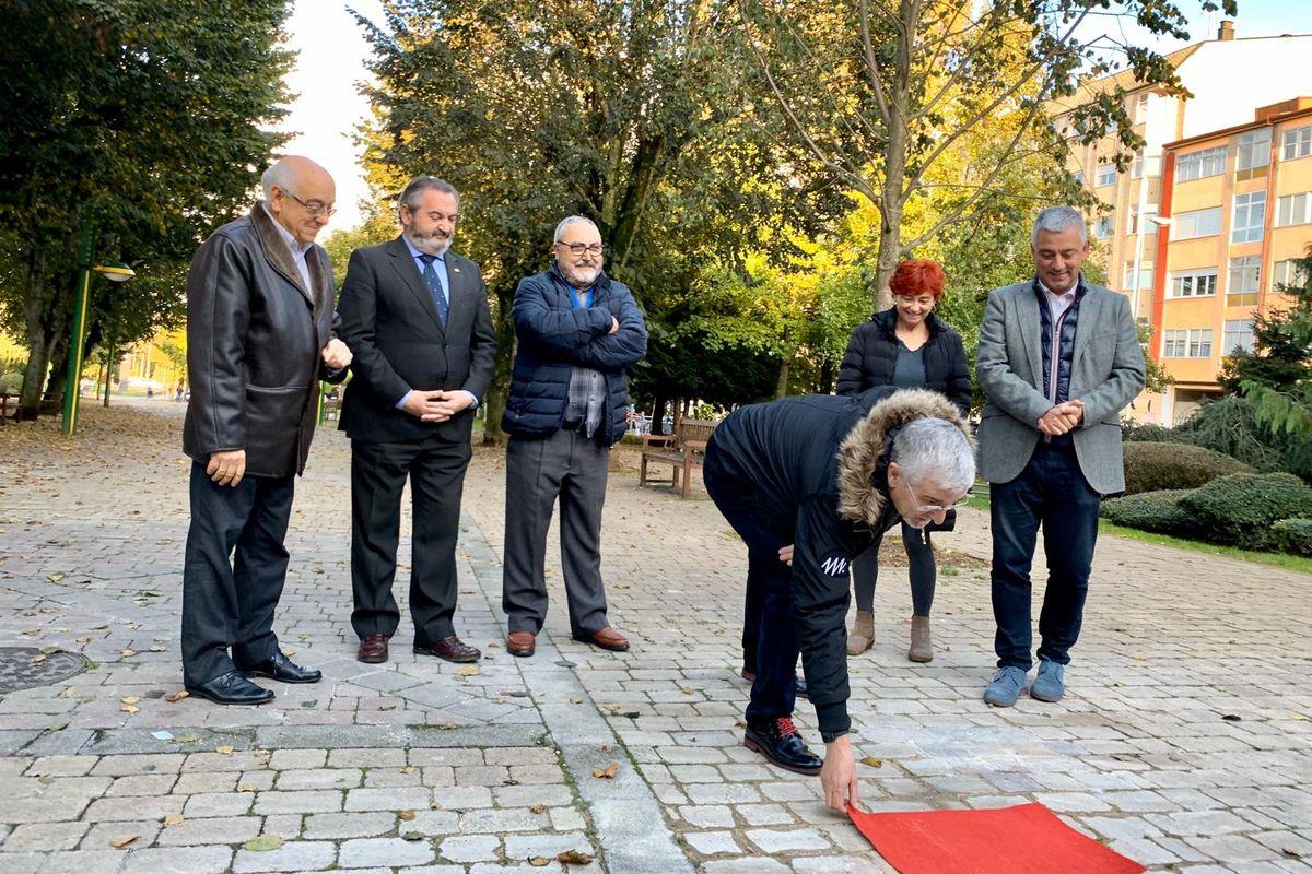
M 1312 489 L 1291 473 L 1232 473 L 1182 497 L 1179 506 L 1198 520 L 1202 540 L 1250 546 L 1281 519 L 1312 516 Z

